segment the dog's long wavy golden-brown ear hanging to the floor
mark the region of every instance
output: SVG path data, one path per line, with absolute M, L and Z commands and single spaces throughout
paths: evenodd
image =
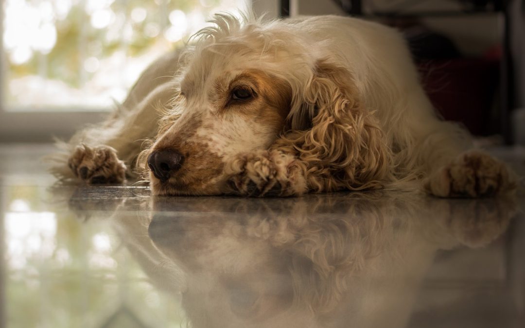
M 296 154 L 310 190 L 376 189 L 393 178 L 391 150 L 350 71 L 318 61 L 295 102 L 291 131 L 275 147 Z

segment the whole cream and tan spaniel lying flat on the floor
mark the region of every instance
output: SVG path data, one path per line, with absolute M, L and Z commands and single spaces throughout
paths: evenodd
M 216 14 L 146 69 L 106 122 L 62 143 L 59 178 L 149 181 L 154 195 L 297 196 L 514 188 L 507 167 L 440 120 L 396 30 L 339 16 Z

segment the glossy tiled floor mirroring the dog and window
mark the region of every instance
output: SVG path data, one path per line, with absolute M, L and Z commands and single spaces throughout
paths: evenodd
M 56 186 L 50 151 L 0 145 L 1 327 L 525 326 L 523 185 L 154 198 Z

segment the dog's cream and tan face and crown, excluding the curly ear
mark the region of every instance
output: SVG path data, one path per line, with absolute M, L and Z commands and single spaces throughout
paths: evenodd
M 213 23 L 187 47 L 174 101 L 147 151 L 155 194 L 224 193 L 224 165 L 239 153 L 267 149 L 284 130 L 288 80 L 302 79 L 294 76 L 307 65 L 302 49 L 285 44 L 287 31 L 241 25 L 228 15 Z

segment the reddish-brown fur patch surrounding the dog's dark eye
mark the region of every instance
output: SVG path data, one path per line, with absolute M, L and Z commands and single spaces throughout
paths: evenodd
M 225 74 L 228 76 L 228 74 Z M 237 101 L 232 99 L 234 90 L 250 90 L 252 97 Z M 260 70 L 245 70 L 230 82 L 218 78 L 209 92 L 209 99 L 219 114 L 237 114 L 256 123 L 282 130 L 290 111 L 292 91 L 289 84 Z

